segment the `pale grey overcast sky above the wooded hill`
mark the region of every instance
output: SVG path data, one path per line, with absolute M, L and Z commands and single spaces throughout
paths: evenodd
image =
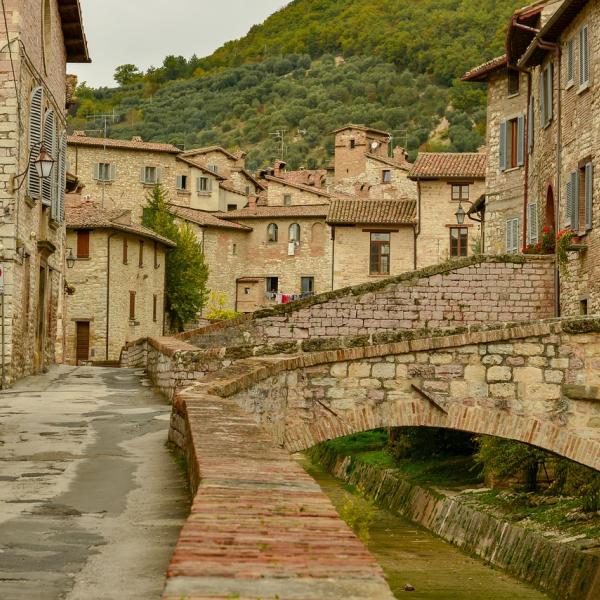
M 92 64 L 68 65 L 88 85 L 115 85 L 115 67 L 206 56 L 289 0 L 80 0 Z

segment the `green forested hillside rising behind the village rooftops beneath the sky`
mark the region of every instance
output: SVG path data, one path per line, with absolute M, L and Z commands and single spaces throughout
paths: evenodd
M 250 168 L 279 156 L 270 134 L 282 128 L 292 168 L 326 164 L 329 133 L 347 122 L 393 131 L 413 156 L 476 149 L 484 95 L 458 77 L 502 51 L 519 4 L 296 0 L 209 57 L 168 56 L 146 73 L 122 65 L 117 88 L 81 85 L 71 125 L 97 128 L 84 117 L 114 110 L 114 137 L 244 148 Z

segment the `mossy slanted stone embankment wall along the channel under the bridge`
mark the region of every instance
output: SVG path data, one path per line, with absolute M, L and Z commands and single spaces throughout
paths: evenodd
M 316 447 L 313 460 L 380 506 L 422 525 L 468 554 L 533 584 L 557 600 L 593 600 L 600 586 L 600 557 L 541 533 L 441 498 L 389 470 Z

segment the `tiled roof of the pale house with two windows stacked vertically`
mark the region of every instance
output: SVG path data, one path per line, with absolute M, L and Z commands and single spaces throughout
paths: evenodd
M 445 179 L 471 177 L 485 179 L 487 154 L 483 152 L 420 152 L 408 177 Z

